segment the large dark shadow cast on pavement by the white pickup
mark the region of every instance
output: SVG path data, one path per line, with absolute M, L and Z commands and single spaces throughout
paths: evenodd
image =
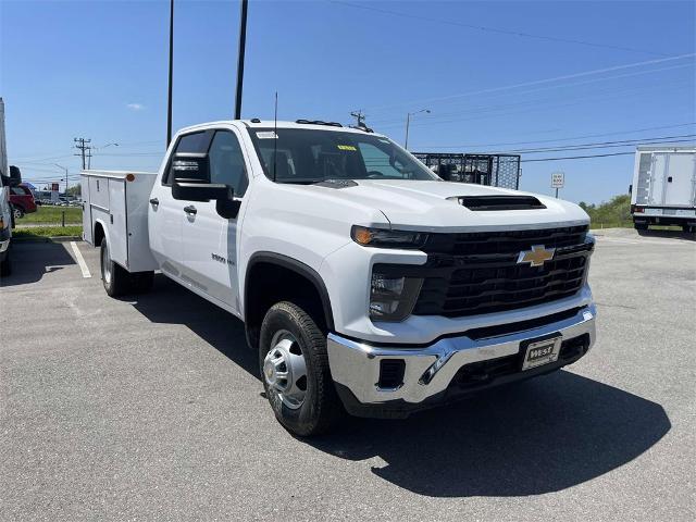
M 136 309 L 187 325 L 259 378 L 240 321 L 163 276 Z M 592 357 L 592 352 L 588 357 Z M 671 428 L 662 407 L 567 371 L 489 390 L 407 420 L 348 419 L 306 444 L 340 459 L 378 458 L 373 473 L 433 497 L 557 492 L 619 468 Z

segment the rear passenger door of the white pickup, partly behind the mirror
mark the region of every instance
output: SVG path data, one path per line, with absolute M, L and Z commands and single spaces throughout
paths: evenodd
M 172 197 L 172 158 L 177 152 L 206 152 L 212 137 L 211 130 L 184 134 L 179 136 L 161 179 L 154 182 L 150 192 L 148 209 L 148 234 L 150 249 L 162 272 L 182 278 L 184 250 L 182 233 L 187 220 L 184 210 L 189 203 Z

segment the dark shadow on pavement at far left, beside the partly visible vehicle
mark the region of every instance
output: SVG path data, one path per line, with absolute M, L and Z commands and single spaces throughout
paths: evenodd
M 62 243 L 15 241 L 10 249 L 12 273 L 0 278 L 1 287 L 36 283 L 49 272 L 75 264 Z

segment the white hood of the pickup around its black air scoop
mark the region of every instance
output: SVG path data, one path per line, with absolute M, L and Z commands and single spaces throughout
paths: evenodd
M 348 186 L 346 186 L 348 185 Z M 336 203 L 378 210 L 388 225 L 399 229 L 427 232 L 486 231 L 495 228 L 525 229 L 539 226 L 587 224 L 588 215 L 576 204 L 551 197 L 518 190 L 467 183 L 437 181 L 356 179 L 346 185 L 311 185 L 306 187 Z M 530 210 L 470 210 L 460 204 L 462 196 L 520 196 L 537 198 L 546 208 Z M 368 209 L 365 209 L 368 210 Z M 361 223 L 356 223 L 361 224 Z

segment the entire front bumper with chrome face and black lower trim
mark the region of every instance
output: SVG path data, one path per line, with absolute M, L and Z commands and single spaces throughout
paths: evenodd
M 544 319 L 496 328 L 475 328 L 418 347 L 375 346 L 330 334 L 328 361 L 336 388 L 349 413 L 360 417 L 407 417 L 415 410 L 498 384 L 548 373 L 583 357 L 595 341 L 594 304 Z M 521 371 L 525 341 L 563 340 L 558 361 Z M 384 361 L 391 371 L 388 387 Z M 382 372 L 382 373 L 381 373 Z

